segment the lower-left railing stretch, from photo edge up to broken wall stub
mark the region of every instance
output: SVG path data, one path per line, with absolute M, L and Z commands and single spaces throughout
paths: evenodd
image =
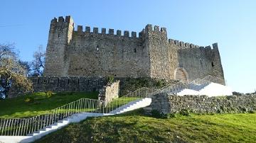
M 78 101 L 50 110 L 47 114 L 37 115 L 32 118 L 0 118 L 0 135 L 28 135 L 75 113 L 95 112 L 95 110 L 97 110 L 97 105 L 97 100 L 81 98 Z

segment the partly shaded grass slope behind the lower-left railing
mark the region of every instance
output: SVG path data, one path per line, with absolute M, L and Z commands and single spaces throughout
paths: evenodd
M 80 98 L 97 99 L 97 94 L 97 92 L 53 93 L 52 96 L 48 96 L 44 92 L 39 92 L 6 99 L 0 101 L 0 118 L 28 118 L 41 115 L 61 105 L 77 101 Z

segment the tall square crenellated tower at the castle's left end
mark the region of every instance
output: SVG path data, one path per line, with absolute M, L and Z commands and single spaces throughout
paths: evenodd
M 66 50 L 73 36 L 73 18 L 60 16 L 50 22 L 44 76 L 68 76 L 69 59 Z

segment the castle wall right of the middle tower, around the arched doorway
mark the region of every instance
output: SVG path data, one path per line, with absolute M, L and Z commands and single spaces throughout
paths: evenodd
M 171 71 L 176 68 L 185 69 L 188 74 L 188 81 L 198 78 L 203 79 L 208 75 L 224 79 L 217 43 L 214 43 L 212 47 L 210 45 L 199 47 L 188 42 L 172 39 L 169 39 L 168 42 L 169 49 L 171 49 L 169 52 L 173 52 L 171 57 L 175 65 Z

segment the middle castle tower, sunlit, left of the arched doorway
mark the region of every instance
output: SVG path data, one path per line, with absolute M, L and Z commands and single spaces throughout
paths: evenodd
M 146 25 L 146 47 L 149 48 L 150 76 L 157 79 L 173 79 L 174 64 L 171 62 L 171 49 L 167 42 L 166 28 Z

